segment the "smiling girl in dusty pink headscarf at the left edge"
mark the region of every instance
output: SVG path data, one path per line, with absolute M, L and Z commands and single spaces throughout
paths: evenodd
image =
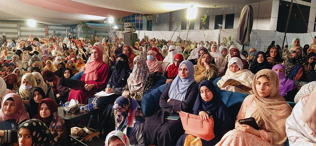
M 4 95 L 1 101 L 0 121 L 14 120 L 16 125 L 30 119 L 28 113 L 24 110 L 21 96 L 16 93 Z M 8 127 L 7 127 L 8 128 Z M 3 145 L 13 145 L 17 142 L 16 129 L 0 130 L 0 143 Z

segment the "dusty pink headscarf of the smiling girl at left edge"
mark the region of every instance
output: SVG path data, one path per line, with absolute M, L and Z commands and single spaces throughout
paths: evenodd
M 13 115 L 6 115 L 3 111 L 3 106 L 4 106 L 3 104 L 9 98 L 13 98 L 14 103 L 15 103 L 15 111 Z M 22 101 L 21 96 L 17 93 L 8 93 L 4 95 L 1 101 L 0 121 L 15 119 L 16 123 L 19 124 L 21 121 L 25 119 L 29 120 L 30 117 L 28 113 L 24 110 L 24 105 L 22 104 L 22 102 L 23 101 Z

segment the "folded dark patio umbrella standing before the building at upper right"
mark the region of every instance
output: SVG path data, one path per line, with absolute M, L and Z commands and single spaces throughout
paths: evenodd
M 240 45 L 250 42 L 250 33 L 253 25 L 253 9 L 246 5 L 240 14 L 239 26 L 237 29 L 236 42 Z

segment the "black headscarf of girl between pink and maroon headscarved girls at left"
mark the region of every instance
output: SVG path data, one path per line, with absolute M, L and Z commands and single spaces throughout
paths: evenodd
M 25 106 L 25 110 L 30 115 L 32 119 L 35 115 L 39 114 L 39 105 L 40 103 L 36 103 L 33 99 L 34 92 L 37 91 L 42 95 L 43 99 L 46 98 L 46 94 L 44 90 L 40 87 L 33 87 L 30 91 L 28 98 L 30 99 L 29 103 Z

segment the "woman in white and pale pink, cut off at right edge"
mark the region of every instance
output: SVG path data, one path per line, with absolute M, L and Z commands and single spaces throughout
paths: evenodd
M 316 87 L 295 105 L 285 123 L 290 145 L 315 145 L 316 143 Z

